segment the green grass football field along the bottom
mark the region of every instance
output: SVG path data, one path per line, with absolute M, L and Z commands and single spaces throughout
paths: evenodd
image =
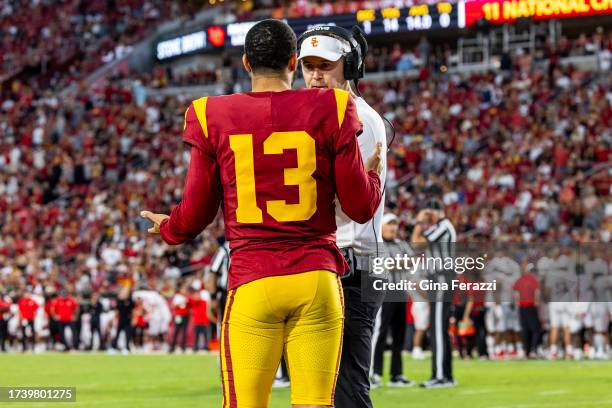
M 405 360 L 424 380 L 429 360 Z M 456 361 L 459 387 L 382 387 L 380 408 L 612 407 L 612 362 Z M 214 355 L 0 354 L 0 386 L 74 386 L 76 403 L 15 403 L 20 407 L 219 407 Z M 9 406 L 2 404 L 0 406 Z M 271 407 L 289 407 L 289 390 L 274 390 Z

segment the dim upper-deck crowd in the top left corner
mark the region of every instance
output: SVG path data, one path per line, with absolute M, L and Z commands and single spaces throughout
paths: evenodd
M 127 51 L 180 2 L 9 1 L 0 10 L 0 80 L 28 76 L 61 89 Z

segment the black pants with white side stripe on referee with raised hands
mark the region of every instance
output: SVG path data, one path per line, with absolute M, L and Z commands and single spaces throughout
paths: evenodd
M 440 299 L 444 299 L 440 296 Z M 453 379 L 452 350 L 448 326 L 451 317 L 451 303 L 446 301 L 429 303 L 429 335 L 431 338 L 431 378 Z

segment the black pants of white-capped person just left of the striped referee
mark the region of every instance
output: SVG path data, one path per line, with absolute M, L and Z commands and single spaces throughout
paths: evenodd
M 383 354 L 391 330 L 391 377 L 403 374 L 402 349 L 406 336 L 406 303 L 384 303 L 380 312 L 380 332 L 374 348 L 374 373 L 383 374 Z

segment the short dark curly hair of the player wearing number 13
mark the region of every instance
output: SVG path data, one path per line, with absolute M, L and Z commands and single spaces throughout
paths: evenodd
M 281 72 L 297 52 L 295 33 L 280 20 L 263 20 L 247 33 L 244 52 L 253 72 Z

